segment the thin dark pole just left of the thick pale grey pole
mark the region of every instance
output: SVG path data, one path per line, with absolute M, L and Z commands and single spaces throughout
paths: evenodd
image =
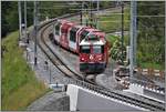
M 122 39 L 121 39 L 121 41 L 122 41 L 122 63 L 123 63 L 123 43 L 124 43 L 124 3 L 123 3 L 123 1 L 121 2 L 121 7 L 122 7 L 122 17 L 121 17 L 121 19 L 122 19 L 122 31 L 121 31 L 121 37 L 122 37 Z

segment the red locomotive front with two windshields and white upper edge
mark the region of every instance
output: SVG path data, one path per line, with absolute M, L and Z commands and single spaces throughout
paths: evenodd
M 102 32 L 91 32 L 80 43 L 80 71 L 103 72 L 107 64 L 107 45 Z

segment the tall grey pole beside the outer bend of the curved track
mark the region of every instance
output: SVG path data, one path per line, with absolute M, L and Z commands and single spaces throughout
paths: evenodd
M 34 65 L 37 65 L 37 38 L 38 38 L 38 2 L 34 1 L 34 12 L 33 12 L 33 19 L 34 19 Z

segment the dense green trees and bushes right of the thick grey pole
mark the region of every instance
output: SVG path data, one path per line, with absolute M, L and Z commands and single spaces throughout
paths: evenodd
M 165 3 L 138 2 L 137 64 L 164 70 Z

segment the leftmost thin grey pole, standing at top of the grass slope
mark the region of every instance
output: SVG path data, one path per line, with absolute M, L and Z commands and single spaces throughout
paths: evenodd
M 22 12 L 21 12 L 21 1 L 18 1 L 18 11 L 19 11 L 19 41 L 22 39 Z

